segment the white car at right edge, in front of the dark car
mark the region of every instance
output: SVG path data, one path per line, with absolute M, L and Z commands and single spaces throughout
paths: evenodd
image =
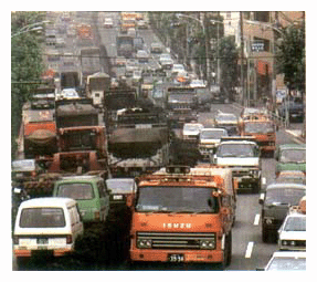
M 288 251 L 306 251 L 306 212 L 289 208 L 278 229 L 278 248 Z

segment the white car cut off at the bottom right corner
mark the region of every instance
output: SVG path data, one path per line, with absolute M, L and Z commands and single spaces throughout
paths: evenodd
M 274 252 L 264 271 L 306 270 L 306 252 Z

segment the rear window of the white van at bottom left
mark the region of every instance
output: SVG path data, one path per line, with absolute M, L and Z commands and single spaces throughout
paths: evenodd
M 65 217 L 62 208 L 25 208 L 21 212 L 21 228 L 64 227 Z

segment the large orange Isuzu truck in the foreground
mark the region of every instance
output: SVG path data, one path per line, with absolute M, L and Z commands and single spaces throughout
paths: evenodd
M 169 166 L 138 179 L 130 261 L 231 262 L 236 195 L 229 168 Z

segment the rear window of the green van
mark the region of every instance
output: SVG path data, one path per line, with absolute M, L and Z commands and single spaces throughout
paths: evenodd
M 94 190 L 91 184 L 62 184 L 59 185 L 56 196 L 74 200 L 89 200 L 94 198 Z

